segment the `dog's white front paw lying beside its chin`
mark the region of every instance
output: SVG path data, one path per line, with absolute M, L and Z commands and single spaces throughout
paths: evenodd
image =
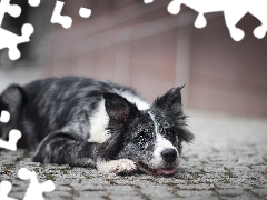
M 102 173 L 130 173 L 137 169 L 136 163 L 129 159 L 98 161 L 97 168 Z

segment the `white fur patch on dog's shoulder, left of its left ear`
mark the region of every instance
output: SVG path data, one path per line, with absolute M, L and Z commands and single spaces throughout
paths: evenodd
M 109 117 L 106 112 L 105 100 L 102 100 L 97 111 L 90 118 L 90 138 L 88 142 L 105 142 L 108 139 L 106 127 L 108 126 Z

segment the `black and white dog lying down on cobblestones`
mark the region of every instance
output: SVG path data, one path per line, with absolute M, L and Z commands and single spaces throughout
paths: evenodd
M 81 77 L 9 86 L 0 111 L 11 114 L 0 136 L 21 130 L 32 161 L 97 167 L 100 172 L 154 176 L 176 172 L 182 141 L 190 142 L 180 90 L 170 89 L 148 104 L 135 90 Z

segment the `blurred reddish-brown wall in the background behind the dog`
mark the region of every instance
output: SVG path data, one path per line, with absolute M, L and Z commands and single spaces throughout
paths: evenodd
M 6 79 L 21 66 L 29 80 L 33 68 L 42 71 L 41 77 L 93 77 L 131 86 L 149 102 L 186 83 L 184 104 L 189 108 L 267 116 L 267 37 L 253 36 L 260 22 L 249 13 L 237 24 L 246 36 L 235 42 L 222 12 L 206 14 L 207 27 L 197 29 L 197 12 L 184 6 L 178 16 L 171 16 L 167 11 L 170 0 L 150 4 L 142 0 L 62 1 L 62 14 L 73 20 L 67 30 L 50 23 L 56 0 L 23 9 L 19 21 L 4 19 L 10 30 L 20 30 L 24 21 L 36 28 L 31 42 L 20 46 L 22 57 L 17 62 L 9 61 L 7 50 L 0 51 L 0 73 Z M 82 19 L 80 7 L 91 9 L 91 17 Z

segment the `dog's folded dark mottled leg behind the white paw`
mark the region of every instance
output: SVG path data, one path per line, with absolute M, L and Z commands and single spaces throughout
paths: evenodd
M 75 136 L 65 132 L 49 134 L 39 144 L 32 158 L 34 162 L 95 167 L 97 143 L 81 142 Z

